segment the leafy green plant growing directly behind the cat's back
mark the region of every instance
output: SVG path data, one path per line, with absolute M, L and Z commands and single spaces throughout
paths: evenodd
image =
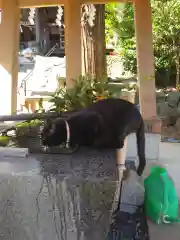
M 111 97 L 112 94 L 107 78 L 97 80 L 90 76 L 81 76 L 74 80 L 73 88 L 67 89 L 65 85 L 61 85 L 52 95 L 51 111 L 78 110 L 99 99 Z

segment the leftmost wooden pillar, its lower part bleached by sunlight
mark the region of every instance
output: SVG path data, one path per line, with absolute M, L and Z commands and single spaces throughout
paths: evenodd
M 0 114 L 17 108 L 20 9 L 17 0 L 2 0 L 0 24 Z

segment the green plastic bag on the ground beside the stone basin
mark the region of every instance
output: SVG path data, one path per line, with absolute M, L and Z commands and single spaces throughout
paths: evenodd
M 144 186 L 146 216 L 156 224 L 180 222 L 178 196 L 167 170 L 152 167 Z

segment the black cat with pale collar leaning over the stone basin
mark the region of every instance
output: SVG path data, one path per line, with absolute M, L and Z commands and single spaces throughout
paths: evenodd
M 69 141 L 71 146 L 121 149 L 125 137 L 131 133 L 137 136 L 137 172 L 141 175 L 146 164 L 144 122 L 137 107 L 122 99 L 98 101 L 72 114 L 66 121 L 47 121 L 42 131 L 42 144 L 57 146 Z

